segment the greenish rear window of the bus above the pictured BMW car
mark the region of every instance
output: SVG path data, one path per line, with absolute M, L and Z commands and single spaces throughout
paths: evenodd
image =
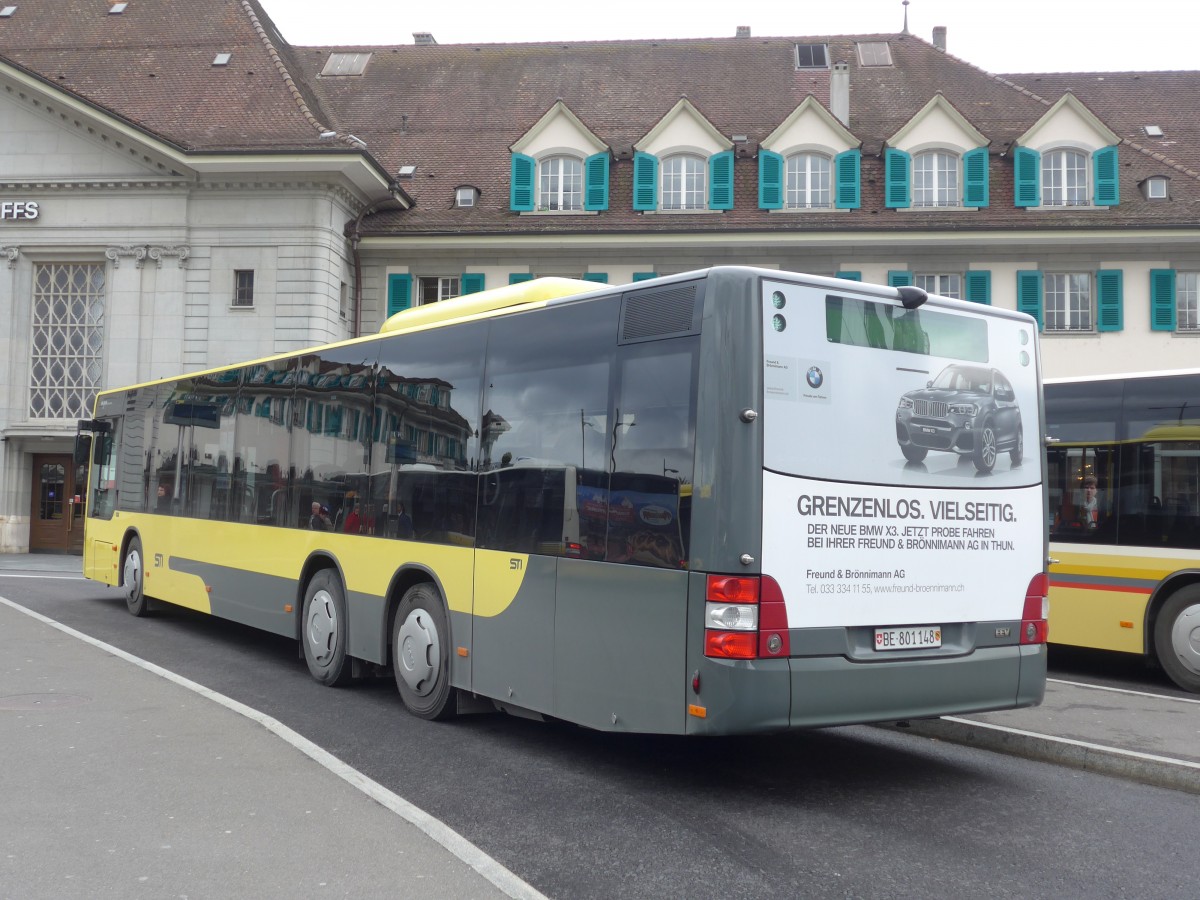
M 826 338 L 830 343 L 988 361 L 988 322 L 931 310 L 905 310 L 850 296 L 826 296 Z

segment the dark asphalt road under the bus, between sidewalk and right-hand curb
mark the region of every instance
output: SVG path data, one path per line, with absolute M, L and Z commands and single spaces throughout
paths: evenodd
M 83 581 L 0 594 L 278 719 L 553 898 L 1194 898 L 1194 796 L 902 732 L 684 740 L 328 689 L 293 642 Z M 1151 672 L 1151 677 L 1153 673 Z

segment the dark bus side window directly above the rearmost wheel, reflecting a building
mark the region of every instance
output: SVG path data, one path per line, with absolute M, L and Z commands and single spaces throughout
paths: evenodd
M 380 343 L 364 530 L 470 546 L 485 323 Z

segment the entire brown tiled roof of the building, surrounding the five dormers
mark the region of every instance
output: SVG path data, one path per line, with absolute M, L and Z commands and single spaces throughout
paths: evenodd
M 893 65 L 860 66 L 856 42 L 887 41 Z M 796 43 L 826 43 L 850 67 L 851 133 L 863 142 L 862 209 L 812 215 L 757 208 L 754 150 L 809 95 L 828 107 L 829 71 L 797 70 Z M 334 50 L 371 53 L 361 76 L 322 76 Z M 211 65 L 218 52 L 228 67 Z M 289 47 L 257 0 L 139 0 L 109 16 L 95 0 L 22 0 L 0 20 L 0 55 L 187 150 L 328 149 L 322 127 L 366 142 L 388 172 L 416 166 L 404 212 L 370 216 L 366 234 L 602 234 L 1194 227 L 1200 202 L 1200 72 L 991 76 L 912 35 L 714 40 Z M 1073 91 L 1126 142 L 1121 204 L 1105 210 L 1013 206 L 1013 142 Z M 883 142 L 931 97 L 990 142 L 991 205 L 898 211 L 883 205 Z M 629 151 L 680 98 L 726 137 L 745 134 L 734 209 L 647 215 L 631 209 Z M 509 146 L 557 100 L 618 155 L 610 209 L 520 216 L 509 210 Z M 1151 121 L 1154 119 L 1154 121 Z M 1165 137 L 1146 137 L 1142 125 Z M 1171 200 L 1138 184 L 1171 176 Z M 460 185 L 480 188 L 472 209 Z

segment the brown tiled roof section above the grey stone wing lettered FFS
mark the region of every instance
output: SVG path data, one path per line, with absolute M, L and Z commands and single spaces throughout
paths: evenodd
M 306 115 L 304 92 L 272 53 L 275 26 L 254 0 L 108 8 L 20 0 L 0 19 L 0 56 L 186 150 L 318 145 L 324 114 L 308 103 Z M 218 53 L 232 54 L 228 66 L 212 65 Z

